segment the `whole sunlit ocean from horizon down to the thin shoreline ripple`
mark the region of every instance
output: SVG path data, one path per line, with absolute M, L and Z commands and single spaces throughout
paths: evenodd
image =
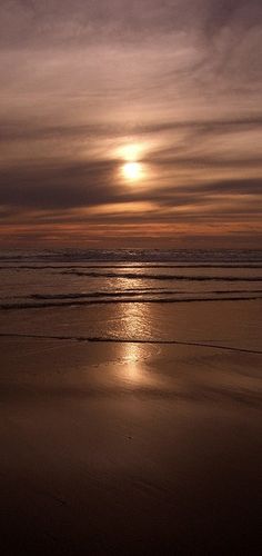
M 0 276 L 2 334 L 175 342 L 185 320 L 183 340 L 261 347 L 262 250 L 16 250 Z

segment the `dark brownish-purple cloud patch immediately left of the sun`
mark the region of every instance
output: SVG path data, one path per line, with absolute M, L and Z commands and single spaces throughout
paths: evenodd
M 54 168 L 13 168 L 0 175 L 0 205 L 74 208 L 117 198 L 109 161 Z

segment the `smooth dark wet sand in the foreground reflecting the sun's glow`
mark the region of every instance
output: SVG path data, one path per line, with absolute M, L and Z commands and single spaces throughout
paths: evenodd
M 262 355 L 0 347 L 3 556 L 260 554 Z

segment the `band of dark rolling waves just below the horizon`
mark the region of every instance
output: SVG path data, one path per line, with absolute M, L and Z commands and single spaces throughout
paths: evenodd
M 262 299 L 262 251 L 0 254 L 0 309 Z

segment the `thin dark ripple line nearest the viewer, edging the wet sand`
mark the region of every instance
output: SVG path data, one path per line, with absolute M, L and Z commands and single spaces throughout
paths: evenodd
M 243 354 L 262 355 L 262 350 L 239 348 L 235 346 L 223 346 L 220 344 L 205 344 L 200 341 L 180 341 L 180 340 L 160 340 L 160 339 L 140 339 L 140 338 L 107 338 L 100 336 L 48 336 L 40 334 L 16 334 L 16 332 L 0 332 L 1 338 L 36 338 L 47 340 L 69 340 L 82 342 L 104 342 L 104 344 L 160 344 L 160 345 L 177 345 L 177 346 L 192 346 L 205 347 L 209 349 L 223 349 L 225 351 L 239 351 Z

